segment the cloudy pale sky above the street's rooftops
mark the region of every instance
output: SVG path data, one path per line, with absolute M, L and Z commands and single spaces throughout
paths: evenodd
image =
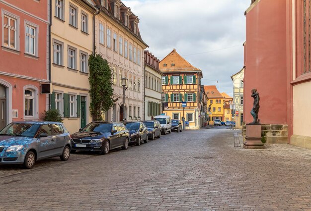
M 244 11 L 250 0 L 122 0 L 140 19 L 149 52 L 173 49 L 203 72 L 202 85 L 233 96 L 231 76 L 243 67 Z M 217 83 L 218 81 L 218 83 Z

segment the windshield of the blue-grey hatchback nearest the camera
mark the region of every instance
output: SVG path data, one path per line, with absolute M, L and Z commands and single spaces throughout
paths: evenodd
M 10 123 L 0 131 L 0 135 L 35 137 L 39 124 Z

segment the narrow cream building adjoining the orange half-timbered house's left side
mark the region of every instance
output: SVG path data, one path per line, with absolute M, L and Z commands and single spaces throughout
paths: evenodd
M 159 60 L 145 51 L 145 110 L 144 119 L 151 120 L 162 112 L 161 90 L 162 76 Z

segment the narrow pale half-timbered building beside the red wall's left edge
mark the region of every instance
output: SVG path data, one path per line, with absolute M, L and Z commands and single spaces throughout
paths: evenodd
M 242 128 L 243 119 L 243 78 L 244 68 L 231 76 L 233 80 L 233 105 L 238 111 L 238 116 L 234 114 L 236 128 Z

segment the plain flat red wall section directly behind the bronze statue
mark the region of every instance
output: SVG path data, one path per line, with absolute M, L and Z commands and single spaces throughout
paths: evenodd
M 286 4 L 261 0 L 246 12 L 244 116 L 252 122 L 251 90 L 260 96 L 262 124 L 287 123 Z M 269 83 L 267 83 L 269 82 Z

